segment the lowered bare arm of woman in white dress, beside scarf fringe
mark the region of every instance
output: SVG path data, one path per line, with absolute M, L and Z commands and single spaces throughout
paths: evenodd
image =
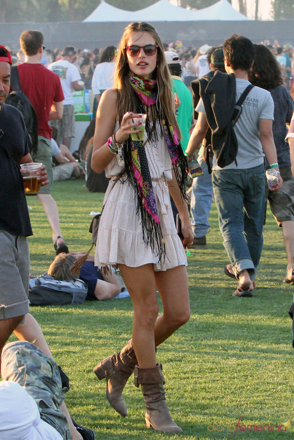
M 190 222 L 190 214 L 188 210 L 188 205 L 186 200 L 183 200 L 181 191 L 179 189 L 179 185 L 176 181 L 176 176 L 174 170 L 172 170 L 172 180 L 169 180 L 167 182 L 169 187 L 169 192 L 172 196 L 173 201 L 176 204 L 176 207 L 179 211 L 179 216 L 181 218 L 181 224 L 182 224 L 182 234 L 184 236 L 183 239 L 183 246 L 190 246 L 194 239 L 194 234 L 191 227 Z

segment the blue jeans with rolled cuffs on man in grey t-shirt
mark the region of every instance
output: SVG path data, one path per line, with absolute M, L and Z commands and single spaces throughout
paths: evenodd
M 264 176 L 263 164 L 212 172 L 219 228 L 236 276 L 247 269 L 253 279 L 262 253 Z

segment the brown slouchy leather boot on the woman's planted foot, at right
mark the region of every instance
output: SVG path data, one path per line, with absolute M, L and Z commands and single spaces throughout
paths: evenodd
M 156 367 L 141 368 L 135 367 L 135 385 L 143 392 L 145 400 L 145 421 L 147 428 L 155 429 L 164 433 L 183 433 L 182 429 L 172 420 L 169 408 L 165 401 L 165 390 L 162 384 L 165 383 L 161 364 Z

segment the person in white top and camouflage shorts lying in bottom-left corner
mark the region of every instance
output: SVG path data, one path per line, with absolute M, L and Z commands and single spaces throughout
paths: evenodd
M 1 440 L 95 440 L 92 429 L 63 413 L 64 390 L 56 362 L 28 341 L 6 344 L 1 356 Z

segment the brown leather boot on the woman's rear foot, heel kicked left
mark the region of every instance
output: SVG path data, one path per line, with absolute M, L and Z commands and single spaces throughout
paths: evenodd
M 136 363 L 137 359 L 132 339 L 130 339 L 119 353 L 109 356 L 94 368 L 98 379 L 106 378 L 106 397 L 108 402 L 115 411 L 124 416 L 128 414 L 128 410 L 122 397 L 122 391 L 130 375 L 133 373 Z

